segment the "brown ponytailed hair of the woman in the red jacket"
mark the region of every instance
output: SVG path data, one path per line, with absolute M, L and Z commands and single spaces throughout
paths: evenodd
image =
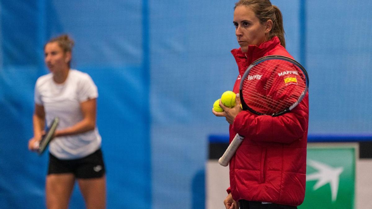
M 274 36 L 278 36 L 280 44 L 285 47 L 283 16 L 277 6 L 272 5 L 270 0 L 240 0 L 235 3 L 234 10 L 238 6 L 248 6 L 254 11 L 261 23 L 272 20 L 273 27 L 269 32 L 269 37 L 272 39 Z

